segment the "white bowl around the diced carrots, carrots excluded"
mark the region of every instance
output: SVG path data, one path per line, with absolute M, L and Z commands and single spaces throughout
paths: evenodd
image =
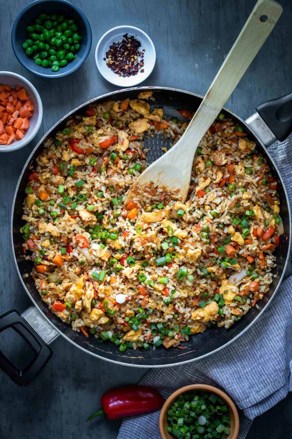
M 32 112 L 32 117 L 29 118 L 30 126 L 25 132 L 25 137 L 21 140 L 14 140 L 10 145 L 0 145 L 0 152 L 16 151 L 23 148 L 38 133 L 42 123 L 42 101 L 36 88 L 23 76 L 13 72 L 0 72 L 0 84 L 5 84 L 15 88 L 18 84 L 24 87 L 35 109 Z

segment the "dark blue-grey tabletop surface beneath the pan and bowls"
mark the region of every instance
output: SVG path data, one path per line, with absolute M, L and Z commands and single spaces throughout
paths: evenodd
M 92 48 L 84 65 L 70 76 L 44 79 L 21 67 L 11 48 L 11 26 L 30 1 L 0 0 L 0 70 L 17 72 L 39 90 L 44 118 L 32 144 L 1 155 L 0 175 L 0 314 L 24 311 L 30 301 L 11 259 L 9 217 L 14 188 L 26 158 L 37 141 L 60 117 L 77 105 L 117 88 L 106 82 L 95 65 L 99 38 L 118 25 L 134 25 L 151 36 L 157 61 L 142 85 L 170 86 L 204 94 L 236 39 L 255 0 L 74 0 L 88 17 Z M 226 106 L 246 118 L 257 104 L 292 91 L 292 2 L 284 8 L 271 36 L 248 68 Z M 15 347 L 16 346 L 16 347 Z M 20 389 L 0 373 L 0 436 L 5 439 L 113 439 L 119 421 L 91 421 L 107 389 L 137 382 L 146 371 L 98 360 L 59 337 L 53 358 L 32 385 Z M 11 333 L 0 335 L 0 349 L 17 354 L 23 347 Z M 271 377 L 271 379 L 273 379 Z M 257 418 L 248 439 L 292 438 L 292 395 Z

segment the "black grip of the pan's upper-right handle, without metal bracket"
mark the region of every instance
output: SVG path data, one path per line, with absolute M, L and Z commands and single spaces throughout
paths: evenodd
M 280 142 L 292 133 L 292 93 L 264 102 L 256 109 Z

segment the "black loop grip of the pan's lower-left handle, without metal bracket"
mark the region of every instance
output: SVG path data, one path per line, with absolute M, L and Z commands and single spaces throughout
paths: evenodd
M 20 370 L 0 351 L 0 368 L 15 384 L 25 387 L 46 366 L 53 351 L 15 309 L 0 316 L 0 332 L 9 327 L 14 329 L 30 345 L 35 356 L 23 370 Z

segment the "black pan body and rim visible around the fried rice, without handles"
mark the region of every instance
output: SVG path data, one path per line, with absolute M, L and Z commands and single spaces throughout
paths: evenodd
M 111 96 L 107 96 L 106 98 L 99 98 L 96 102 L 102 102 L 105 100 L 122 100 L 126 97 L 130 97 L 131 99 L 137 98 L 137 95 L 140 90 L 124 90 L 121 92 L 116 92 L 115 94 L 111 94 Z M 158 89 L 154 90 L 153 96 L 155 97 L 155 102 L 149 101 L 153 106 L 163 106 L 165 117 L 166 116 L 176 116 L 180 117 L 180 115 L 176 112 L 177 109 L 187 109 L 191 112 L 194 112 L 200 102 L 201 97 L 197 95 L 193 95 L 187 92 L 182 92 L 180 90 L 169 90 L 169 89 Z M 92 102 L 92 101 L 91 101 Z M 83 114 L 86 107 L 79 108 L 73 114 Z M 227 110 L 224 110 L 227 112 Z M 231 114 L 231 113 L 230 113 Z M 232 116 L 233 117 L 233 116 Z M 242 119 L 237 119 L 240 124 L 243 124 Z M 56 126 L 48 136 L 52 136 L 57 130 L 59 130 L 59 126 L 63 126 L 67 119 L 64 119 L 60 122 L 60 125 Z M 265 149 L 262 147 L 260 142 L 253 136 L 250 132 L 248 126 L 246 126 L 246 132 L 249 132 L 249 139 L 253 139 L 257 142 L 257 148 L 261 153 L 266 155 Z M 146 143 L 147 147 L 151 148 L 151 151 L 148 153 L 149 162 L 154 161 L 158 158 L 159 155 L 162 154 L 161 148 L 165 146 L 165 141 L 162 139 L 162 136 L 156 137 L 155 139 L 148 139 Z M 42 144 L 39 148 L 35 149 L 30 163 L 35 160 L 35 158 L 39 155 L 42 150 Z M 207 329 L 203 334 L 194 335 L 190 337 L 190 341 L 188 343 L 184 343 L 182 346 L 186 347 L 186 349 L 177 349 L 172 348 L 166 350 L 162 349 L 149 349 L 145 351 L 144 349 L 138 349 L 134 351 L 133 349 L 127 349 L 126 352 L 121 353 L 120 350 L 110 342 L 99 343 L 96 341 L 94 337 L 90 337 L 89 339 L 85 338 L 84 335 L 80 332 L 73 331 L 71 326 L 68 324 L 64 324 L 60 319 L 56 318 L 53 313 L 51 313 L 44 302 L 42 302 L 38 291 L 35 288 L 34 281 L 32 277 L 29 275 L 28 277 L 24 277 L 26 273 L 31 273 L 32 263 L 25 261 L 25 259 L 21 258 L 23 254 L 23 239 L 20 233 L 20 227 L 23 225 L 23 221 L 21 220 L 22 215 L 22 204 L 25 198 L 25 186 L 28 180 L 28 166 L 24 169 L 21 179 L 19 181 L 19 186 L 17 193 L 15 194 L 15 204 L 13 210 L 13 244 L 14 244 L 14 252 L 16 256 L 16 261 L 18 265 L 18 270 L 22 281 L 25 284 L 25 288 L 28 294 L 31 296 L 32 300 L 39 307 L 39 309 L 44 313 L 44 315 L 50 320 L 50 322 L 64 335 L 69 341 L 74 342 L 81 349 L 88 351 L 93 355 L 102 357 L 105 360 L 115 361 L 118 363 L 127 364 L 129 366 L 140 366 L 140 367 L 162 367 L 169 366 L 174 364 L 183 363 L 186 361 L 195 360 L 202 356 L 206 356 L 218 348 L 221 348 L 226 343 L 232 341 L 232 339 L 239 336 L 242 331 L 244 331 L 260 314 L 260 312 L 267 306 L 270 301 L 272 295 L 274 294 L 275 289 L 279 283 L 279 279 L 281 274 L 283 273 L 287 253 L 288 253 L 288 245 L 290 239 L 290 224 L 289 224 L 289 212 L 287 199 L 285 196 L 285 191 L 281 184 L 281 180 L 279 180 L 277 176 L 277 171 L 268 158 L 269 166 L 271 167 L 274 176 L 278 180 L 278 192 L 280 195 L 280 209 L 281 209 L 281 218 L 284 223 L 285 235 L 281 238 L 280 246 L 275 250 L 275 255 L 277 258 L 277 270 L 275 273 L 278 273 L 278 277 L 274 277 L 273 283 L 271 284 L 270 290 L 267 294 L 264 295 L 264 299 L 260 302 L 259 308 L 252 308 L 246 314 L 244 318 L 239 320 L 236 324 L 234 324 L 229 330 L 225 330 L 224 328 L 218 328 L 217 326 L 213 326 L 210 329 Z

